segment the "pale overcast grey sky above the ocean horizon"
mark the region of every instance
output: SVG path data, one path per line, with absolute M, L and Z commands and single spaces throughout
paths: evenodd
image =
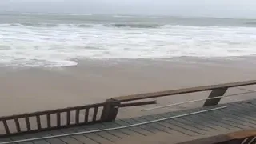
M 256 18 L 256 0 L 0 0 L 0 11 Z

